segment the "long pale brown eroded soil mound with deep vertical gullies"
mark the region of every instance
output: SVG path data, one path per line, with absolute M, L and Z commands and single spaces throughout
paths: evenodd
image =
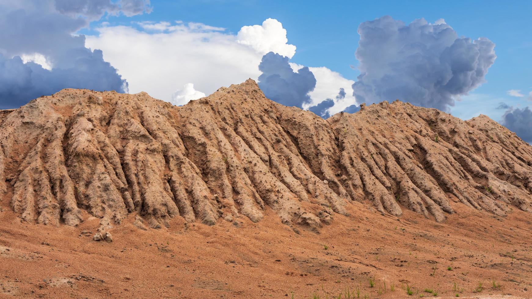
M 532 211 L 532 147 L 479 116 L 395 101 L 327 120 L 264 97 L 253 80 L 182 107 L 145 92 L 64 89 L 0 112 L 0 194 L 30 223 L 101 230 L 129 213 L 214 225 L 266 207 L 318 231 L 347 205 L 444 221 L 450 202 Z

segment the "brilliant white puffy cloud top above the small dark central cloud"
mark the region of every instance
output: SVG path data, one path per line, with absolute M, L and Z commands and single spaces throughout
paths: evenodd
M 288 44 L 286 29 L 275 19 L 266 19 L 262 25 L 242 27 L 237 42 L 252 47 L 257 53 L 274 52 L 288 58 L 296 53 L 296 46 Z

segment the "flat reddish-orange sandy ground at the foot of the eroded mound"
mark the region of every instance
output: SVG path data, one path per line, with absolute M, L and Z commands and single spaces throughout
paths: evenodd
M 168 229 L 139 229 L 130 215 L 110 230 L 112 242 L 97 242 L 97 218 L 86 214 L 78 227 L 21 223 L 3 200 L 0 296 L 345 298 L 349 288 L 354 298 L 357 289 L 360 298 L 532 297 L 529 213 L 501 218 L 452 204 L 460 212 L 436 223 L 355 203 L 319 234 L 294 233 L 269 208 L 259 223 L 175 217 Z

